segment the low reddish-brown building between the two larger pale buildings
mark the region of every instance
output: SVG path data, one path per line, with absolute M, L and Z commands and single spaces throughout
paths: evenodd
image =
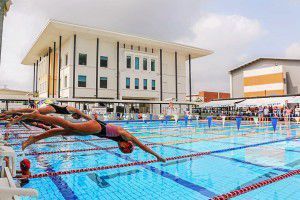
M 228 98 L 230 98 L 230 94 L 225 92 L 200 91 L 198 94 L 192 95 L 192 101 L 197 101 L 197 102 L 210 102 L 216 99 L 228 99 Z M 186 99 L 188 100 L 189 96 L 187 96 Z

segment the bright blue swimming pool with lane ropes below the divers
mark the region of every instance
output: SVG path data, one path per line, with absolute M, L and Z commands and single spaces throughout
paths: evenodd
M 225 127 L 195 121 L 116 123 L 168 158 L 166 163 L 136 148 L 122 154 L 116 144 L 97 137 L 46 139 L 25 150 L 39 199 L 300 199 L 300 126 Z M 9 142 L 21 160 L 14 127 Z M 35 132 L 34 134 L 36 134 Z M 229 197 L 229 196 L 228 196 Z M 24 198 L 27 199 L 27 198 Z

